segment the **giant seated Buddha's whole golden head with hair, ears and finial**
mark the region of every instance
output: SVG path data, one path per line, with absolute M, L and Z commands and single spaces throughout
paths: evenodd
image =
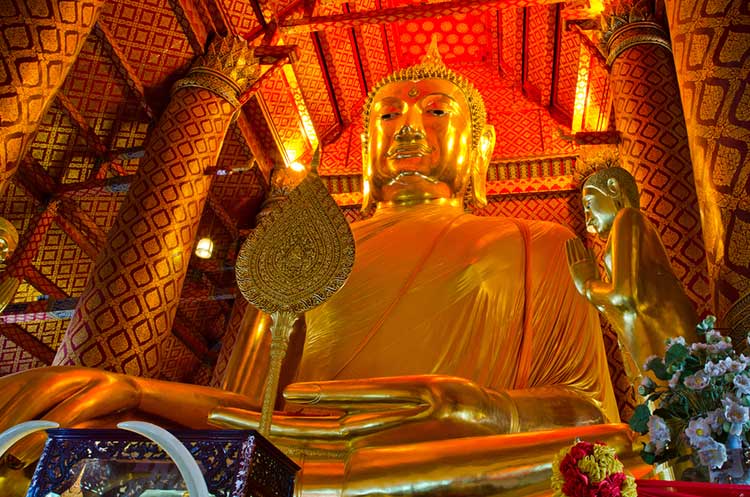
M 386 77 L 370 92 L 362 135 L 364 198 L 394 204 L 463 201 L 484 204 L 495 130 L 479 92 L 440 59 L 436 40 L 417 65 Z

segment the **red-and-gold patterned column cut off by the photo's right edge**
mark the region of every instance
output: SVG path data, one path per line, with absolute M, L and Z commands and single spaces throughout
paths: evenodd
M 747 0 L 666 0 L 665 3 L 703 213 L 714 308 L 719 317 L 726 317 L 729 326 L 747 332 L 750 326 L 750 3 Z

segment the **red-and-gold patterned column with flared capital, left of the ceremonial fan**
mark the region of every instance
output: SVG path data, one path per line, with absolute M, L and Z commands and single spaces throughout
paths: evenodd
M 54 364 L 158 375 L 210 186 L 204 171 L 258 73 L 245 40 L 220 38 L 175 84 Z

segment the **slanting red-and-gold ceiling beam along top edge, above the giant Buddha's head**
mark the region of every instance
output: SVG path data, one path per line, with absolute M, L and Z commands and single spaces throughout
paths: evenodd
M 428 17 L 477 14 L 494 9 L 549 5 L 563 0 L 450 0 L 438 3 L 410 4 L 402 7 L 350 12 L 329 16 L 313 16 L 302 19 L 284 19 L 279 22 L 282 33 L 309 33 L 328 28 L 351 28 L 363 24 L 390 24 L 399 21 L 425 19 Z

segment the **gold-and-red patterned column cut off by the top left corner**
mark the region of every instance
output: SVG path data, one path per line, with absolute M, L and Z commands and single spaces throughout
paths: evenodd
M 65 80 L 103 0 L 0 3 L 0 195 Z

